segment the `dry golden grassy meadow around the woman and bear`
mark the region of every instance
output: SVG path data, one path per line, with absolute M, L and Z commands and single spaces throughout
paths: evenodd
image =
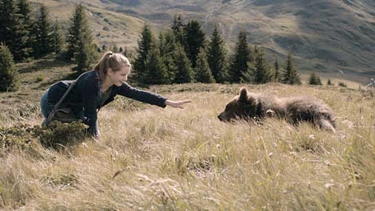
M 6 144 L 12 128 L 28 135 L 38 127 L 43 90 L 74 77 L 70 68 L 48 59 L 19 64 L 21 90 L 0 94 L 0 210 L 375 209 L 374 90 L 337 83 L 152 86 L 192 103 L 162 109 L 118 97 L 99 112 L 99 140 L 54 148 L 28 136 L 27 147 Z M 216 116 L 242 86 L 322 99 L 338 132 L 276 119 L 220 122 Z M 62 135 L 70 139 L 68 132 Z

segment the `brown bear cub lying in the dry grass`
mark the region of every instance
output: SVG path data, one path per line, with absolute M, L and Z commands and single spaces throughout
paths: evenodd
M 323 101 L 309 96 L 278 98 L 272 94 L 256 94 L 241 88 L 240 94 L 228 102 L 218 116 L 220 121 L 261 120 L 265 117 L 285 119 L 294 125 L 307 121 L 323 130 L 336 132 L 332 110 Z

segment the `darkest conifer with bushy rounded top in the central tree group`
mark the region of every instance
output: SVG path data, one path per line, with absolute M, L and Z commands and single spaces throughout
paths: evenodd
M 205 33 L 201 29 L 201 23 L 196 20 L 189 21 L 183 28 L 185 52 L 192 63 L 192 68 L 196 66 L 196 56 L 200 48 L 205 47 Z

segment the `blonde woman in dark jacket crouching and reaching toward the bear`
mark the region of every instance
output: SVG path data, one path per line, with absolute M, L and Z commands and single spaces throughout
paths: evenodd
M 82 119 L 83 123 L 88 125 L 88 132 L 94 137 L 99 137 L 97 109 L 113 101 L 116 94 L 161 108 L 183 108 L 183 104 L 191 102 L 171 101 L 159 94 L 132 88 L 125 82 L 128 80 L 130 68 L 130 62 L 123 54 L 106 52 L 94 70 L 84 72 L 77 78 L 75 86 L 63 100 L 61 107 L 70 108 L 77 119 Z M 72 81 L 59 81 L 44 92 L 41 98 L 41 111 L 45 120 L 70 84 Z M 45 120 L 42 125 L 45 125 Z

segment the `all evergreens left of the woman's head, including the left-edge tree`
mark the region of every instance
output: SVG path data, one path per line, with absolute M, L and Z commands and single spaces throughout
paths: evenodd
M 79 73 L 90 70 L 97 59 L 91 33 L 81 4 L 74 9 L 64 37 L 59 23 L 50 21 L 43 4 L 32 15 L 27 0 L 0 1 L 0 91 L 18 87 L 14 62 L 39 59 L 51 53 L 77 63 L 74 70 Z

